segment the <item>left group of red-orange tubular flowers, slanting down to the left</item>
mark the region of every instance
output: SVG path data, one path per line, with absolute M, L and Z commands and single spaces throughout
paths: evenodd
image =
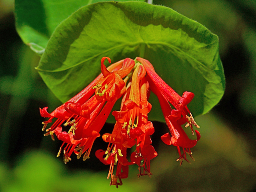
M 67 144 L 64 148 L 65 163 L 71 160 L 70 155 L 72 152 L 78 155 L 77 158 L 80 158 L 82 154 L 84 154 L 84 160 L 89 158 L 92 144 L 94 140 L 100 136 L 99 132 L 106 122 L 114 103 L 125 92 L 125 89 L 123 88 L 114 92 L 112 91 L 112 87 L 120 87 L 120 84 L 121 86 L 122 84 L 125 84 L 122 78 L 121 80 L 120 77 L 118 79 L 118 76 L 119 74 L 121 74 L 122 77 L 127 75 L 134 66 L 134 60 L 121 60 L 106 68 L 103 64 L 105 59 L 106 57 L 102 58 L 101 61 L 103 74 L 100 74 L 82 92 L 74 96 L 62 106 L 56 108 L 56 110 L 54 110 L 54 112 L 51 114 L 47 112 L 47 107 L 40 109 L 40 114 L 42 117 L 50 118 L 48 121 L 43 122 L 43 130 L 46 128 L 48 123 L 52 122 L 54 117 L 58 118 L 54 124 L 46 130 L 47 133 L 44 135 L 51 135 L 52 139 L 54 140 L 55 133 L 59 140 L 62 140 Z M 110 62 L 110 59 L 107 59 Z M 116 71 L 119 72 L 115 73 Z M 107 76 L 106 72 L 109 72 Z M 114 74 L 114 76 L 111 76 L 112 74 Z M 112 80 L 111 77 L 113 78 Z M 108 79 L 108 81 L 106 81 L 106 79 Z M 116 79 L 118 79 L 118 81 L 116 81 Z M 94 86 L 97 86 L 101 82 L 105 82 L 105 84 L 108 86 L 108 88 L 106 88 L 106 94 L 108 94 L 108 96 L 105 98 L 104 94 L 102 94 L 103 98 L 100 98 L 99 101 L 97 100 L 96 95 L 92 96 L 92 94 L 94 94 Z M 108 92 L 108 90 L 110 91 Z M 62 125 L 71 126 L 68 133 L 65 131 L 62 132 Z M 64 143 L 60 148 L 60 152 Z M 77 152 L 79 150 L 80 152 Z M 60 155 L 60 152 L 58 153 L 58 156 Z

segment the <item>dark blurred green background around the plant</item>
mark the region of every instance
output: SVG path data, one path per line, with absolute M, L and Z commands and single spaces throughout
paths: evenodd
M 192 148 L 192 164 L 176 162 L 178 152 L 160 136 L 165 124 L 154 122 L 158 156 L 152 178 L 137 179 L 137 166 L 116 189 L 106 179 L 109 166 L 94 155 L 83 162 L 56 158 L 61 142 L 41 131 L 39 107 L 61 103 L 34 67 L 39 56 L 15 30 L 14 1 L 0 0 L 0 191 L 1 192 L 254 192 L 256 191 L 256 1 L 154 0 L 194 19 L 219 36 L 226 92 L 208 114 L 199 116 L 201 140 Z M 102 132 L 111 130 L 106 124 Z M 97 139 L 93 152 L 106 149 Z

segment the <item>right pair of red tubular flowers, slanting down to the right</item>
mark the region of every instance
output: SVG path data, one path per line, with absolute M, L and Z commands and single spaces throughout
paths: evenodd
M 166 120 L 166 124 L 170 130 L 169 133 L 164 134 L 161 139 L 165 144 L 177 146 L 180 157 L 177 161 L 180 161 L 180 166 L 182 165 L 182 161 L 186 160 L 186 153 L 188 153 L 192 160 L 192 152 L 190 148 L 196 145 L 196 142 L 200 139 L 200 133 L 196 130 L 196 140 L 190 140 L 187 134 L 182 129 L 181 125 L 188 122 L 187 126 L 190 126 L 192 130 L 192 134 L 194 135 L 194 130 L 192 125 L 195 125 L 197 128 L 199 126 L 194 121 L 194 118 L 191 112 L 188 110 L 187 104 L 193 99 L 194 94 L 191 92 L 184 92 L 182 97 L 179 96 L 170 86 L 168 86 L 154 71 L 152 64 L 148 60 L 142 58 L 136 58 L 136 60 L 140 61 L 146 69 L 148 74 L 147 80 L 150 84 L 150 89 L 156 96 L 160 102 L 162 112 L 164 114 L 164 118 Z M 172 110 L 169 103 L 170 102 L 175 108 Z M 188 113 L 190 116 L 188 116 Z M 182 147 L 184 153 L 181 154 L 180 147 Z M 189 162 L 190 163 L 190 162 Z

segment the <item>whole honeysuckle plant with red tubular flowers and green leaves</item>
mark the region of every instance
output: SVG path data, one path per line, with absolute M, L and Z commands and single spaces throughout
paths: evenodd
M 41 56 L 36 70 L 64 103 L 50 113 L 40 108 L 44 135 L 63 142 L 57 156 L 65 164 L 75 155 L 86 160 L 101 137 L 108 145 L 95 156 L 110 165 L 110 185 L 122 185 L 132 164 L 138 177 L 151 177 L 150 160 L 158 155 L 152 121 L 161 121 L 169 129 L 161 140 L 178 149 L 174 160 L 180 166 L 194 160 L 200 127 L 193 116 L 207 113 L 224 94 L 218 37 L 146 2 L 40 2 L 16 0 L 16 28 Z M 105 122 L 115 123 L 112 133 L 101 132 Z

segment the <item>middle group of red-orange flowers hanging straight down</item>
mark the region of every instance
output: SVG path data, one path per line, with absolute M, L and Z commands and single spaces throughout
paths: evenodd
M 148 121 L 147 116 L 151 110 L 151 104 L 147 101 L 149 84 L 145 75 L 144 67 L 138 64 L 132 74 L 132 80 L 126 87 L 127 91 L 122 99 L 121 111 L 112 112 L 117 120 L 114 130 L 111 134 L 107 133 L 102 136 L 105 142 L 109 142 L 108 149 L 104 153 L 106 157 L 103 158 L 103 150 L 97 151 L 100 161 L 110 164 L 108 174 L 108 178 L 111 178 L 110 185 L 117 187 L 122 184 L 121 178 L 128 176 L 128 165 L 130 164 L 138 164 L 140 170 L 138 176 L 150 176 L 152 174 L 150 160 L 157 156 L 154 147 L 151 146 L 150 135 L 153 134 L 154 127 Z M 131 162 L 128 162 L 126 149 L 134 145 L 136 145 L 136 151 L 132 153 Z M 117 164 L 115 175 L 113 174 L 114 164 Z M 144 168 L 143 173 L 141 167 Z

